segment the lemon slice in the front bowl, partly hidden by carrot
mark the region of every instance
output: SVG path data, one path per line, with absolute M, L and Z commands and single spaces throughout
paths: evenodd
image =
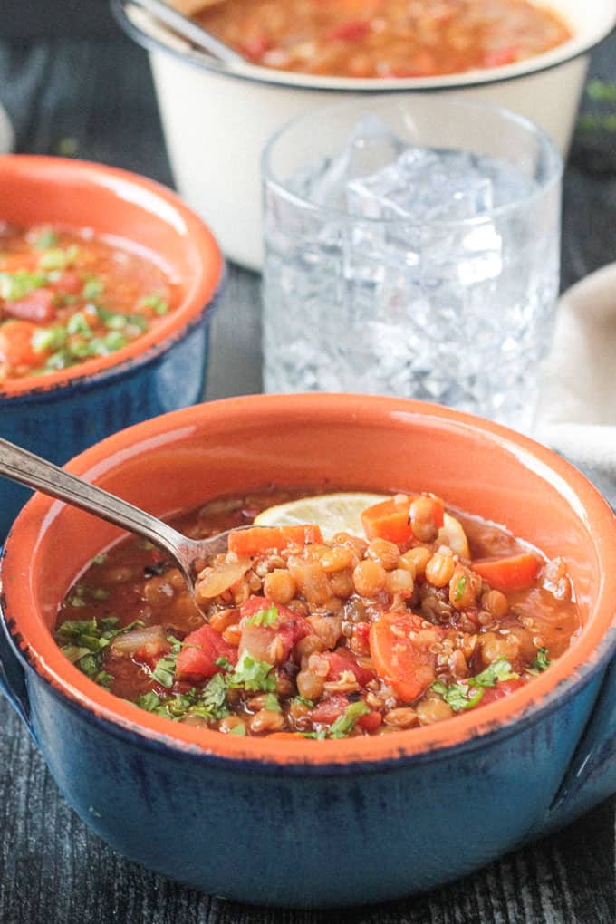
M 350 532 L 352 536 L 364 536 L 361 514 L 373 504 L 386 501 L 390 494 L 368 494 L 366 492 L 338 492 L 335 494 L 314 494 L 299 497 L 296 501 L 278 504 L 262 510 L 255 517 L 255 526 L 297 526 L 315 523 L 320 526 L 323 539 L 332 539 L 337 532 Z M 468 541 L 462 523 L 451 514 L 444 515 L 437 541 L 448 545 L 454 554 L 470 558 Z

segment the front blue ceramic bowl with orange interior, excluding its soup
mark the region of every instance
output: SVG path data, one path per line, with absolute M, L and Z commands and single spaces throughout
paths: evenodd
M 250 903 L 380 902 L 616 790 L 615 521 L 547 449 L 411 401 L 259 395 L 139 424 L 68 468 L 158 515 L 270 481 L 432 490 L 562 554 L 585 624 L 525 687 L 436 725 L 321 742 L 190 728 L 112 696 L 54 645 L 57 602 L 119 531 L 37 495 L 2 563 L 3 683 L 66 799 L 125 856 Z

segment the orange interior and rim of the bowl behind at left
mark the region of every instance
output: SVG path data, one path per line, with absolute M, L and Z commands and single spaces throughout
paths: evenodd
M 91 228 L 156 261 L 178 288 L 175 310 L 134 343 L 68 370 L 8 380 L 0 396 L 51 388 L 138 357 L 199 316 L 220 281 L 223 260 L 206 225 L 170 189 L 124 170 L 61 157 L 2 157 L 0 221 Z

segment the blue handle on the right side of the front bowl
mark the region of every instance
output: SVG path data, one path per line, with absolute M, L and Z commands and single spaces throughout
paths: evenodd
M 601 684 L 584 735 L 550 808 L 549 828 L 562 828 L 616 792 L 616 658 Z

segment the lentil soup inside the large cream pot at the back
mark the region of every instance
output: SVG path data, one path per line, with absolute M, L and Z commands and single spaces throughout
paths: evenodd
M 194 18 L 255 64 L 356 78 L 499 67 L 572 37 L 528 0 L 225 0 Z

